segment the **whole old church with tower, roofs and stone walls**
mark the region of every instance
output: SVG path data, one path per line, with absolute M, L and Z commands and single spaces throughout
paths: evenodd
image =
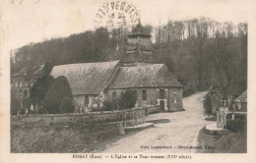
M 90 112 L 126 90 L 137 93 L 137 106 L 159 105 L 180 111 L 183 86 L 164 64 L 156 64 L 151 34 L 139 24 L 130 34 L 121 61 L 55 66 L 51 76 L 64 76 L 71 85 L 77 110 Z

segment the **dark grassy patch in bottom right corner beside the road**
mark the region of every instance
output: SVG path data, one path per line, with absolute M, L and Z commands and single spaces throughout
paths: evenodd
M 206 146 L 198 149 L 200 153 L 246 153 L 247 132 L 246 120 L 227 120 L 228 132 L 224 135 L 212 135 L 203 128 L 199 132 L 199 146 Z

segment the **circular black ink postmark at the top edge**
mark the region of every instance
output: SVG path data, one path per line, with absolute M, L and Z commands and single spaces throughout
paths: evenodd
M 95 27 L 135 27 L 140 21 L 136 7 L 126 1 L 111 0 L 102 4 L 94 20 Z

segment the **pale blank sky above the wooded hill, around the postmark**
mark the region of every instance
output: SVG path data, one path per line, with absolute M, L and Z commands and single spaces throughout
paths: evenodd
M 233 24 L 247 22 L 246 5 L 240 0 L 127 0 L 141 15 L 143 25 L 165 24 L 167 19 L 208 17 Z M 96 11 L 104 0 L 2 1 L 5 46 L 14 49 L 30 42 L 94 29 Z M 6 49 L 6 50 L 7 50 Z

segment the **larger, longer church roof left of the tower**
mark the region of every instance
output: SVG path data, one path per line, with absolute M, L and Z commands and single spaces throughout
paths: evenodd
M 98 94 L 116 72 L 119 61 L 81 63 L 54 66 L 50 75 L 64 76 L 70 83 L 73 95 Z

